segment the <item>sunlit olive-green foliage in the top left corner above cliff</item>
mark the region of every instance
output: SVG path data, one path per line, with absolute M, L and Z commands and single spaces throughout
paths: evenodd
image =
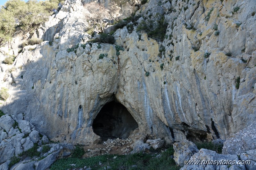
M 63 0 L 9 0 L 0 8 L 0 45 L 10 40 L 15 30 L 30 31 L 48 19 Z

